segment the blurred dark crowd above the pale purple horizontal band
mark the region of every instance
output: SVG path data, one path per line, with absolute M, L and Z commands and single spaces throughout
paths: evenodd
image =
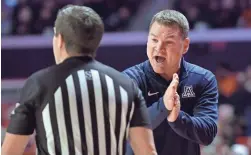
M 52 34 L 56 13 L 65 4 L 92 7 L 102 16 L 106 31 L 145 30 L 136 21 L 149 21 L 147 16 L 161 3 L 165 9 L 181 11 L 191 29 L 251 27 L 250 0 L 3 0 L 2 35 Z M 149 12 L 148 12 L 149 11 Z M 145 14 L 147 12 L 147 14 Z M 139 19 L 139 20 L 138 20 Z

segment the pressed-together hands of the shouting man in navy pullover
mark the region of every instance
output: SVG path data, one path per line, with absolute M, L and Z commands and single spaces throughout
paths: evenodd
M 169 122 L 174 122 L 180 112 L 180 97 L 177 93 L 177 88 L 179 85 L 179 77 L 178 74 L 173 74 L 172 82 L 167 88 L 164 94 L 164 104 L 167 110 L 171 111 L 171 113 L 167 116 L 167 120 Z

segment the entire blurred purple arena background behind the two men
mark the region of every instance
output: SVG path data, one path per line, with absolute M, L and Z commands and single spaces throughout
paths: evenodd
M 251 154 L 251 0 L 2 0 L 1 140 L 19 89 L 33 72 L 54 64 L 53 24 L 65 4 L 92 7 L 106 34 L 97 59 L 120 71 L 147 59 L 152 16 L 163 9 L 181 11 L 192 40 L 186 60 L 214 72 L 218 79 L 219 131 L 202 155 Z M 35 154 L 34 139 L 25 155 Z

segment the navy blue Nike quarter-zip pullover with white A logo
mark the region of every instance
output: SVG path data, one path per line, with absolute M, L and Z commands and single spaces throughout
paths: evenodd
M 168 122 L 162 98 L 171 81 L 156 74 L 148 60 L 124 73 L 136 82 L 146 100 L 159 155 L 200 155 L 200 144 L 213 141 L 218 87 L 212 72 L 182 59 L 177 90 L 181 111 L 175 122 Z

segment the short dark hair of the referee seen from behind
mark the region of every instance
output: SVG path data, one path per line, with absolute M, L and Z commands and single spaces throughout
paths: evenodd
M 67 5 L 58 11 L 55 35 L 62 35 L 67 52 L 95 56 L 103 33 L 102 19 L 89 7 Z

